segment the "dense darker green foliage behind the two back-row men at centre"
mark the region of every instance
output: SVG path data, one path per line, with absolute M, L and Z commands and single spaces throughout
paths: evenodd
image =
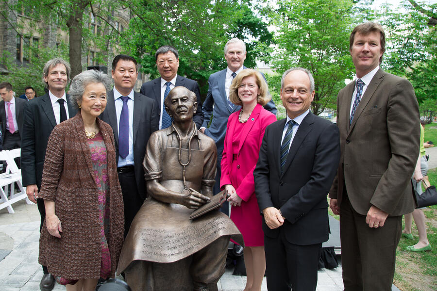
M 209 75 L 226 67 L 224 45 L 232 37 L 255 39 L 247 46 L 246 66 L 255 66 L 252 53 L 257 42 L 270 44 L 267 24 L 255 16 L 249 1 L 231 0 L 151 1 L 133 0 L 134 17 L 121 42 L 139 60 L 151 79 L 159 77 L 155 51 L 171 45 L 179 52 L 178 74 L 197 80 L 206 95 Z M 246 41 L 246 43 L 248 43 Z

